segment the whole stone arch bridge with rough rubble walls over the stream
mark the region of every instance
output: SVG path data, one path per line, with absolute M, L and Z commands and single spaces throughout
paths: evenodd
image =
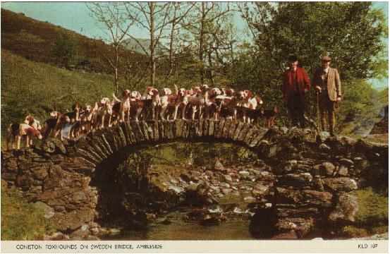
M 273 224 L 264 224 L 269 210 L 264 212 L 261 205 L 251 223 L 255 231 L 272 226 L 267 237 L 305 238 L 329 222 L 353 222 L 356 200 L 348 192 L 388 185 L 387 145 L 346 137 L 316 143 L 315 133 L 308 129 L 257 128 L 226 119 L 130 121 L 78 140 L 48 140 L 42 148 L 1 152 L 1 183 L 30 202 L 41 203 L 57 230 L 80 236 L 85 227 L 92 232 L 98 217 L 99 188 L 90 181 L 99 164 L 138 144 L 174 140 L 238 143 L 271 165 L 272 183 L 255 192 L 259 204 L 264 199 L 272 203 Z M 83 237 L 75 239 L 87 239 Z

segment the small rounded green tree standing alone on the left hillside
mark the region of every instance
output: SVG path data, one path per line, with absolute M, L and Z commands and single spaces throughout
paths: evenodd
M 79 55 L 78 42 L 67 32 L 61 32 L 57 35 L 56 42 L 53 48 L 54 55 L 60 59 L 60 61 L 67 68 L 71 61 L 73 61 Z

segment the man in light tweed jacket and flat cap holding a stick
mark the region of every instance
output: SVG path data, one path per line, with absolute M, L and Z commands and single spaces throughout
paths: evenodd
M 341 81 L 339 72 L 330 68 L 331 58 L 322 57 L 322 67 L 315 72 L 313 85 L 319 94 L 319 113 L 321 115 L 322 131 L 326 131 L 329 124 L 329 133 L 334 136 L 336 123 L 336 107 L 341 102 Z

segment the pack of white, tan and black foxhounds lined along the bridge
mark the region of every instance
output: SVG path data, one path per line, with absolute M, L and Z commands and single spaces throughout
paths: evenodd
M 12 123 L 8 128 L 7 150 L 10 143 L 13 149 L 20 149 L 23 136 L 25 146 L 29 147 L 34 138 L 72 139 L 123 121 L 176 120 L 178 117 L 217 121 L 224 117 L 259 124 L 261 119 L 267 119 L 268 128 L 272 128 L 279 111 L 276 106 L 263 109 L 261 97 L 249 90 L 236 92 L 232 88 L 209 88 L 208 85 L 191 90 L 174 85 L 173 92 L 169 88 L 159 91 L 147 87 L 144 95 L 138 91 L 123 90 L 121 99 L 114 93 L 112 97 L 104 97 L 85 107 L 75 104 L 66 114 L 52 111 L 51 118 L 43 126 L 31 115 L 26 116 L 24 123 Z

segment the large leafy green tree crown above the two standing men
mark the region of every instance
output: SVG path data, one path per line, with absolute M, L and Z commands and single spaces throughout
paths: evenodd
M 259 51 L 283 69 L 297 54 L 310 73 L 329 54 L 343 78 L 372 78 L 387 69 L 384 14 L 370 2 L 238 4 Z

